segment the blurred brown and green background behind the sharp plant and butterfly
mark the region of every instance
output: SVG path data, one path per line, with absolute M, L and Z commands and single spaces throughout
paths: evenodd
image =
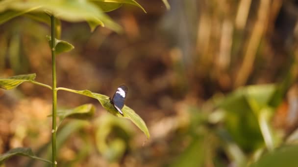
M 123 34 L 62 21 L 61 39 L 75 49 L 57 56 L 57 85 L 113 96 L 126 84 L 125 104 L 151 137 L 97 100 L 59 91 L 58 108 L 96 106 L 93 119 L 61 125 L 60 167 L 241 167 L 295 144 L 298 0 L 169 0 L 170 10 L 137 1 L 147 13 L 108 13 Z M 1 24 L 0 77 L 36 73 L 51 84 L 46 35 L 48 25 L 24 17 Z M 51 98 L 29 83 L 0 90 L 0 153 L 50 156 Z M 13 157 L 4 167 L 44 165 Z

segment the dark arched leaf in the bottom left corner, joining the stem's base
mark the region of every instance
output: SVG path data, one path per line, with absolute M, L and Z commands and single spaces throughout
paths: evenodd
M 44 162 L 47 162 L 47 163 L 51 164 L 51 162 L 49 160 L 36 157 L 35 154 L 32 152 L 31 148 L 24 148 L 24 147 L 13 148 L 13 149 L 9 150 L 8 152 L 6 152 L 4 154 L 1 154 L 0 155 L 0 164 L 3 163 L 8 158 L 11 158 L 11 157 L 17 156 L 17 155 L 18 156 L 30 157 L 30 158 L 37 159 L 37 160 L 40 160 L 40 161 L 44 161 Z

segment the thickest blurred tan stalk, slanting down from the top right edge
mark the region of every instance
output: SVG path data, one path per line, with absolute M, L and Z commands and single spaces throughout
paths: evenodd
M 258 46 L 260 45 L 264 30 L 267 27 L 267 16 L 269 12 L 271 0 L 261 0 L 258 11 L 258 19 L 252 29 L 252 34 L 248 41 L 247 50 L 243 60 L 243 64 L 240 67 L 239 73 L 236 77 L 234 87 L 239 87 L 245 84 L 248 80 L 249 74 L 252 71 L 253 62 L 257 53 Z

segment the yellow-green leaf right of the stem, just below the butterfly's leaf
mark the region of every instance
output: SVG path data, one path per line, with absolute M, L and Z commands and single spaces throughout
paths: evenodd
M 57 115 L 61 120 L 65 118 L 75 118 L 75 119 L 89 119 L 92 118 L 95 112 L 95 107 L 93 104 L 84 104 L 73 109 L 59 109 Z

